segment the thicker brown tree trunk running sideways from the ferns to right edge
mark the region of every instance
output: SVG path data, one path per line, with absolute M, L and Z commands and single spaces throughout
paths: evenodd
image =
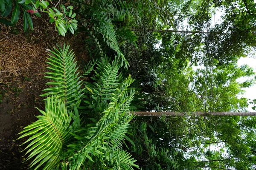
M 132 112 L 137 116 L 185 116 L 189 112 Z M 195 116 L 256 116 L 256 112 L 191 112 Z

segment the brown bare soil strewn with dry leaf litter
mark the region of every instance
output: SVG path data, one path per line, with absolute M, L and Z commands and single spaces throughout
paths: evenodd
M 16 28 L 0 25 L 0 169 L 26 169 L 20 153 L 24 140 L 16 140 L 23 127 L 35 122 L 44 110 L 42 90 L 47 88 L 46 48 L 70 44 L 79 61 L 87 62 L 81 33 L 58 36 L 47 15 L 34 17 L 34 31 L 23 32 L 23 21 Z M 81 68 L 81 67 L 80 67 Z M 26 156 L 25 156 L 26 157 Z

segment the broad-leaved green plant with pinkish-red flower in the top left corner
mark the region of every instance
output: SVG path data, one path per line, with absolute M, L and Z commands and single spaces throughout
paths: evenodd
M 14 9 L 12 11 L 14 4 Z M 29 28 L 33 30 L 31 15 L 41 17 L 41 12 L 49 15 L 49 22 L 55 23 L 55 29 L 59 35 L 65 36 L 68 30 L 72 34 L 77 29 L 76 13 L 72 11 L 73 6 L 64 6 L 62 1 L 53 2 L 52 0 L 0 0 L 0 15 L 6 18 L 12 13 L 11 20 L 0 18 L 0 23 L 14 26 L 23 14 L 23 30 Z

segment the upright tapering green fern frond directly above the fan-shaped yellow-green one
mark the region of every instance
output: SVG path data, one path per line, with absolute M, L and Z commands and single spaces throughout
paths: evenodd
M 74 62 L 74 53 L 69 51 L 69 45 L 64 45 L 63 49 L 58 47 L 54 48 L 54 51 L 50 51 L 52 55 L 49 55 L 49 62 L 51 67 L 47 67 L 52 72 L 47 72 L 49 76 L 45 78 L 52 79 L 53 82 L 47 82 L 47 85 L 54 85 L 54 87 L 44 89 L 47 93 L 41 96 L 58 96 L 64 99 L 68 110 L 72 106 L 78 107 L 81 102 L 82 82 L 79 81 L 79 72 L 76 73 L 77 67 Z

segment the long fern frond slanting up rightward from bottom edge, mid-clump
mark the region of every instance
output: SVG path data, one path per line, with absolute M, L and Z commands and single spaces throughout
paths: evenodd
M 117 101 L 118 99 L 113 99 L 113 100 Z M 108 106 L 109 107 L 104 111 L 102 118 L 96 124 L 97 128 L 90 127 L 87 129 L 87 131 L 89 131 L 88 132 L 89 134 L 93 133 L 93 135 L 90 136 L 89 140 L 84 140 L 79 136 L 75 136 L 76 139 L 81 139 L 81 142 L 84 145 L 83 146 L 81 146 L 81 144 L 76 145 L 76 149 L 78 151 L 73 156 L 69 157 L 70 164 L 72 165 L 79 164 L 79 167 L 80 167 L 81 162 L 85 161 L 86 159 L 90 159 L 89 158 L 90 156 L 88 156 L 88 153 L 91 153 L 93 156 L 100 158 L 104 156 L 106 152 L 108 152 L 108 150 L 120 148 L 121 143 L 119 142 L 119 140 L 122 141 L 122 139 L 124 139 L 124 135 L 128 130 L 129 122 L 131 121 L 133 116 L 131 114 L 125 114 L 125 113 L 120 114 L 118 102 L 111 102 L 108 104 Z M 81 136 L 85 136 L 85 134 Z M 104 144 L 110 144 L 110 145 L 104 145 Z M 117 147 L 116 144 L 119 146 Z M 79 146 L 81 146 L 80 149 L 79 149 Z M 106 146 L 110 146 L 112 149 Z M 130 166 L 134 166 L 133 159 L 127 159 L 126 161 L 128 161 L 130 165 L 129 166 L 124 165 L 124 166 L 129 167 L 128 169 L 132 169 L 130 168 Z M 76 168 L 79 168 L 79 167 L 76 167 Z M 71 168 L 71 170 L 75 170 L 75 169 Z

